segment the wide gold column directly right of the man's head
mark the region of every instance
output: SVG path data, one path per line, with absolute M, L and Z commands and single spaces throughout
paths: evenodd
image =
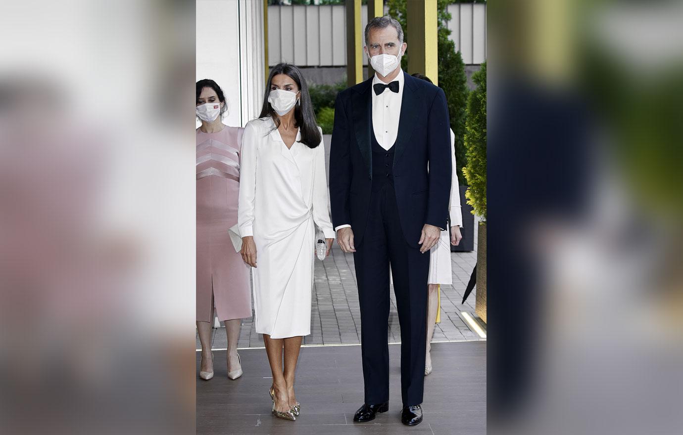
M 438 84 L 436 0 L 406 1 L 408 74 L 425 74 Z

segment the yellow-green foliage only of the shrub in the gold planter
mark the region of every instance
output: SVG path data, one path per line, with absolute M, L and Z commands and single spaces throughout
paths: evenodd
M 472 74 L 477 89 L 467 99 L 464 138 L 467 166 L 463 168 L 469 188 L 465 193 L 473 214 L 486 220 L 486 62 Z

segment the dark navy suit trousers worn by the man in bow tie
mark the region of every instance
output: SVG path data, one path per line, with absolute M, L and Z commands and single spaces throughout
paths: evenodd
M 419 237 L 419 235 L 417 235 Z M 372 192 L 365 236 L 354 253 L 361 308 L 365 402 L 389 400 L 389 265 L 401 327 L 404 406 L 422 403 L 430 253 L 405 241 L 390 183 Z

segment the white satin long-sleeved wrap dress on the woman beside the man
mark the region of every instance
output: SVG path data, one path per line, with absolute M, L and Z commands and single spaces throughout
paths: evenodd
M 254 322 L 270 338 L 311 333 L 316 225 L 335 237 L 324 145 L 299 140 L 288 149 L 270 118 L 249 121 L 242 137 L 238 226 L 256 244 Z

